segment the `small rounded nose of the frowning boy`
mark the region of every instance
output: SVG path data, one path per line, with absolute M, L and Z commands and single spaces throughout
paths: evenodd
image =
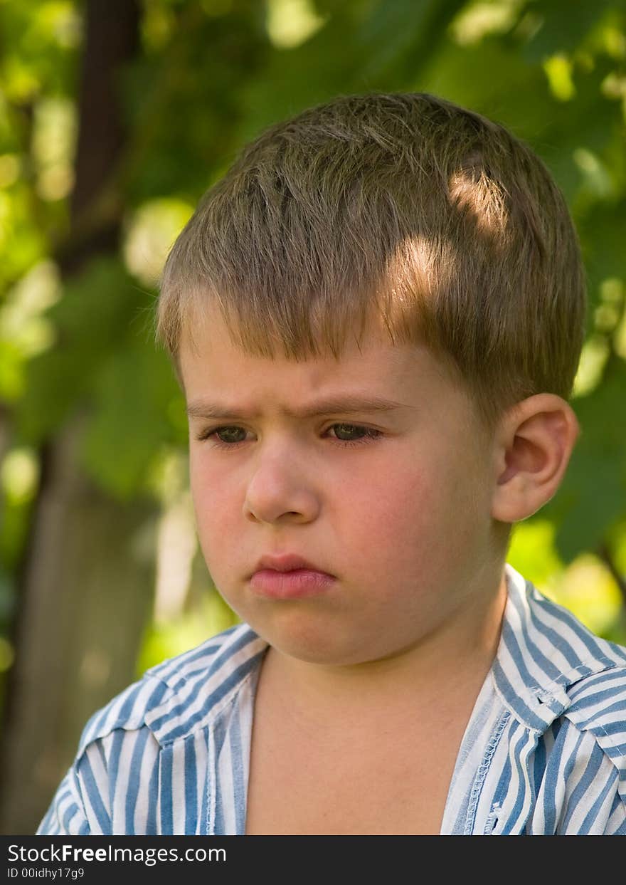
M 300 460 L 290 457 L 284 448 L 266 453 L 248 481 L 244 515 L 264 523 L 316 519 L 319 496 L 308 476 Z

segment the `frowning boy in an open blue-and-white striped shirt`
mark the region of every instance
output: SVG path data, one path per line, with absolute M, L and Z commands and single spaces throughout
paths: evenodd
M 158 308 L 243 623 L 95 714 L 38 832 L 626 835 L 626 650 L 505 562 L 583 330 L 567 209 L 504 128 L 345 96 L 250 144 Z

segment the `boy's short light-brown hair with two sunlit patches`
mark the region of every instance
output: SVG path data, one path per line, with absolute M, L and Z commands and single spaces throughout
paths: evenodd
M 426 94 L 341 96 L 270 127 L 202 198 L 164 267 L 156 335 L 177 361 L 207 299 L 249 354 L 339 357 L 372 312 L 426 342 L 485 423 L 571 393 L 584 273 L 546 166 Z

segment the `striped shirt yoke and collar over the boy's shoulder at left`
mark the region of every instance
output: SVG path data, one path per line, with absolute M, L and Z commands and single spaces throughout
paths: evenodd
M 248 624 L 239 624 L 150 667 L 88 720 L 77 755 L 119 729 L 148 728 L 164 746 L 203 727 L 256 673 L 266 649 Z

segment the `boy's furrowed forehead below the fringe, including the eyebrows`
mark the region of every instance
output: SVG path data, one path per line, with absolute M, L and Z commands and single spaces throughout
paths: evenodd
M 400 432 L 422 427 L 433 440 L 478 440 L 480 422 L 467 389 L 425 345 L 393 344 L 369 328 L 340 358 L 300 361 L 251 355 L 214 317 L 181 342 L 179 362 L 190 420 L 239 422 L 361 418 Z M 482 443 L 481 447 L 482 447 Z

